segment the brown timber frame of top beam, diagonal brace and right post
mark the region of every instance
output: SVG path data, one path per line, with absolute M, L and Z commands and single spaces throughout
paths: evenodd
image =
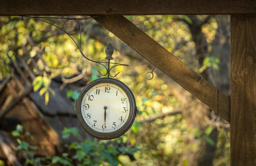
M 231 14 L 231 97 L 120 16 L 146 14 Z M 3 0 L 0 6 L 0 15 L 105 15 L 95 20 L 230 122 L 232 166 L 256 165 L 255 14 L 252 0 Z

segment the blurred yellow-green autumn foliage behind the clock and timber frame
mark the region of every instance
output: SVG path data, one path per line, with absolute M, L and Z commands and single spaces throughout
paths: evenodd
M 216 88 L 229 95 L 229 16 L 157 15 L 127 18 Z M 62 27 L 65 20 L 47 21 Z M 74 21 L 67 26 L 67 31 L 70 32 L 78 28 Z M 82 51 L 87 57 L 104 60 L 106 45 L 111 43 L 115 50 L 114 62 L 129 64 L 129 67 L 116 67 L 114 72 L 120 72 L 116 79 L 124 82 L 134 93 L 140 113 L 125 135 L 111 140 L 118 142 L 117 144 L 99 140 L 85 142 L 92 147 L 113 147 L 101 150 L 115 158 L 117 163 L 110 160 L 93 163 L 90 157 L 86 159 L 89 160 L 88 163 L 81 163 L 81 159 L 72 158 L 74 155 L 69 152 L 68 155 L 56 156 L 62 156 L 69 163 L 76 160 L 81 165 L 230 165 L 230 130 L 227 122 L 217 117 L 207 106 L 158 69 L 154 70 L 154 78 L 147 80 L 145 72 L 151 71 L 154 66 L 93 19 L 81 20 L 81 29 Z M 73 37 L 80 42 L 79 33 Z M 37 65 L 44 72 L 44 76 L 36 77 L 33 82 L 34 90 L 40 91 L 46 105 L 49 95 L 55 94 L 48 87 L 54 78 L 82 75 L 79 80 L 88 83 L 101 77 L 97 69 L 105 72 L 102 66 L 82 57 L 73 40 L 56 27 L 33 18 L 23 17 L 21 20 L 21 17 L 0 17 L 0 80 L 9 76 L 12 60 L 16 60 L 17 54 L 25 54 L 22 46 L 29 50 L 30 57 L 40 52 L 47 64 L 45 67 L 43 62 L 38 61 Z M 39 71 L 35 69 L 34 72 L 38 74 Z M 62 81 L 60 90 L 71 83 L 65 79 Z M 69 89 L 67 97 L 76 100 L 82 88 L 83 86 L 76 86 Z M 79 147 L 76 149 L 78 151 Z M 48 163 L 42 162 L 42 157 L 36 161 L 33 158 L 33 162 L 65 165 L 56 156 L 49 159 Z M 111 157 L 106 156 L 108 159 Z M 38 160 L 41 161 L 38 163 Z

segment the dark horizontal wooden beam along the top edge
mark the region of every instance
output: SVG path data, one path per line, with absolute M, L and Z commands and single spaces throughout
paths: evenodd
M 256 13 L 252 0 L 1 0 L 0 15 Z

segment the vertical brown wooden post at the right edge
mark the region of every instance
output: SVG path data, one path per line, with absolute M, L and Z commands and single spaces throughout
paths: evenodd
M 256 166 L 256 15 L 231 16 L 231 166 Z

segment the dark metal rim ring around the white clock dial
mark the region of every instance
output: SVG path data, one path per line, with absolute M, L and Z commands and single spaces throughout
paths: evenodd
M 82 103 L 84 94 L 91 87 L 93 87 L 99 83 L 112 83 L 112 84 L 115 84 L 116 86 L 119 86 L 119 88 L 121 88 L 126 93 L 128 99 L 129 99 L 129 102 L 130 102 L 130 113 L 129 113 L 126 123 L 120 129 L 117 129 L 114 132 L 102 133 L 102 132 L 97 132 L 97 131 L 93 130 L 90 126 L 87 125 L 87 123 L 85 123 L 84 118 L 81 114 L 81 103 Z M 131 89 L 129 89 L 128 86 L 126 86 L 125 83 L 123 83 L 122 81 L 119 81 L 119 80 L 116 80 L 113 78 L 99 78 L 99 79 L 94 80 L 93 82 L 89 83 L 87 86 L 85 86 L 77 99 L 76 109 L 77 109 L 77 111 L 76 111 L 77 118 L 78 118 L 79 123 L 82 126 L 82 128 L 91 136 L 102 139 L 102 140 L 114 139 L 116 137 L 120 137 L 121 135 L 125 134 L 125 132 L 127 132 L 131 128 L 132 124 L 134 123 L 135 117 L 137 115 L 136 101 L 135 101 L 133 93 L 131 92 Z

